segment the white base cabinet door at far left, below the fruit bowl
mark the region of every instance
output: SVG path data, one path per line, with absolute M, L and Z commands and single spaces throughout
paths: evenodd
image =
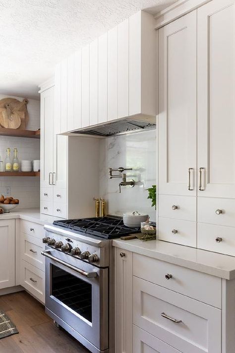
M 15 285 L 15 221 L 0 220 L 0 289 Z

